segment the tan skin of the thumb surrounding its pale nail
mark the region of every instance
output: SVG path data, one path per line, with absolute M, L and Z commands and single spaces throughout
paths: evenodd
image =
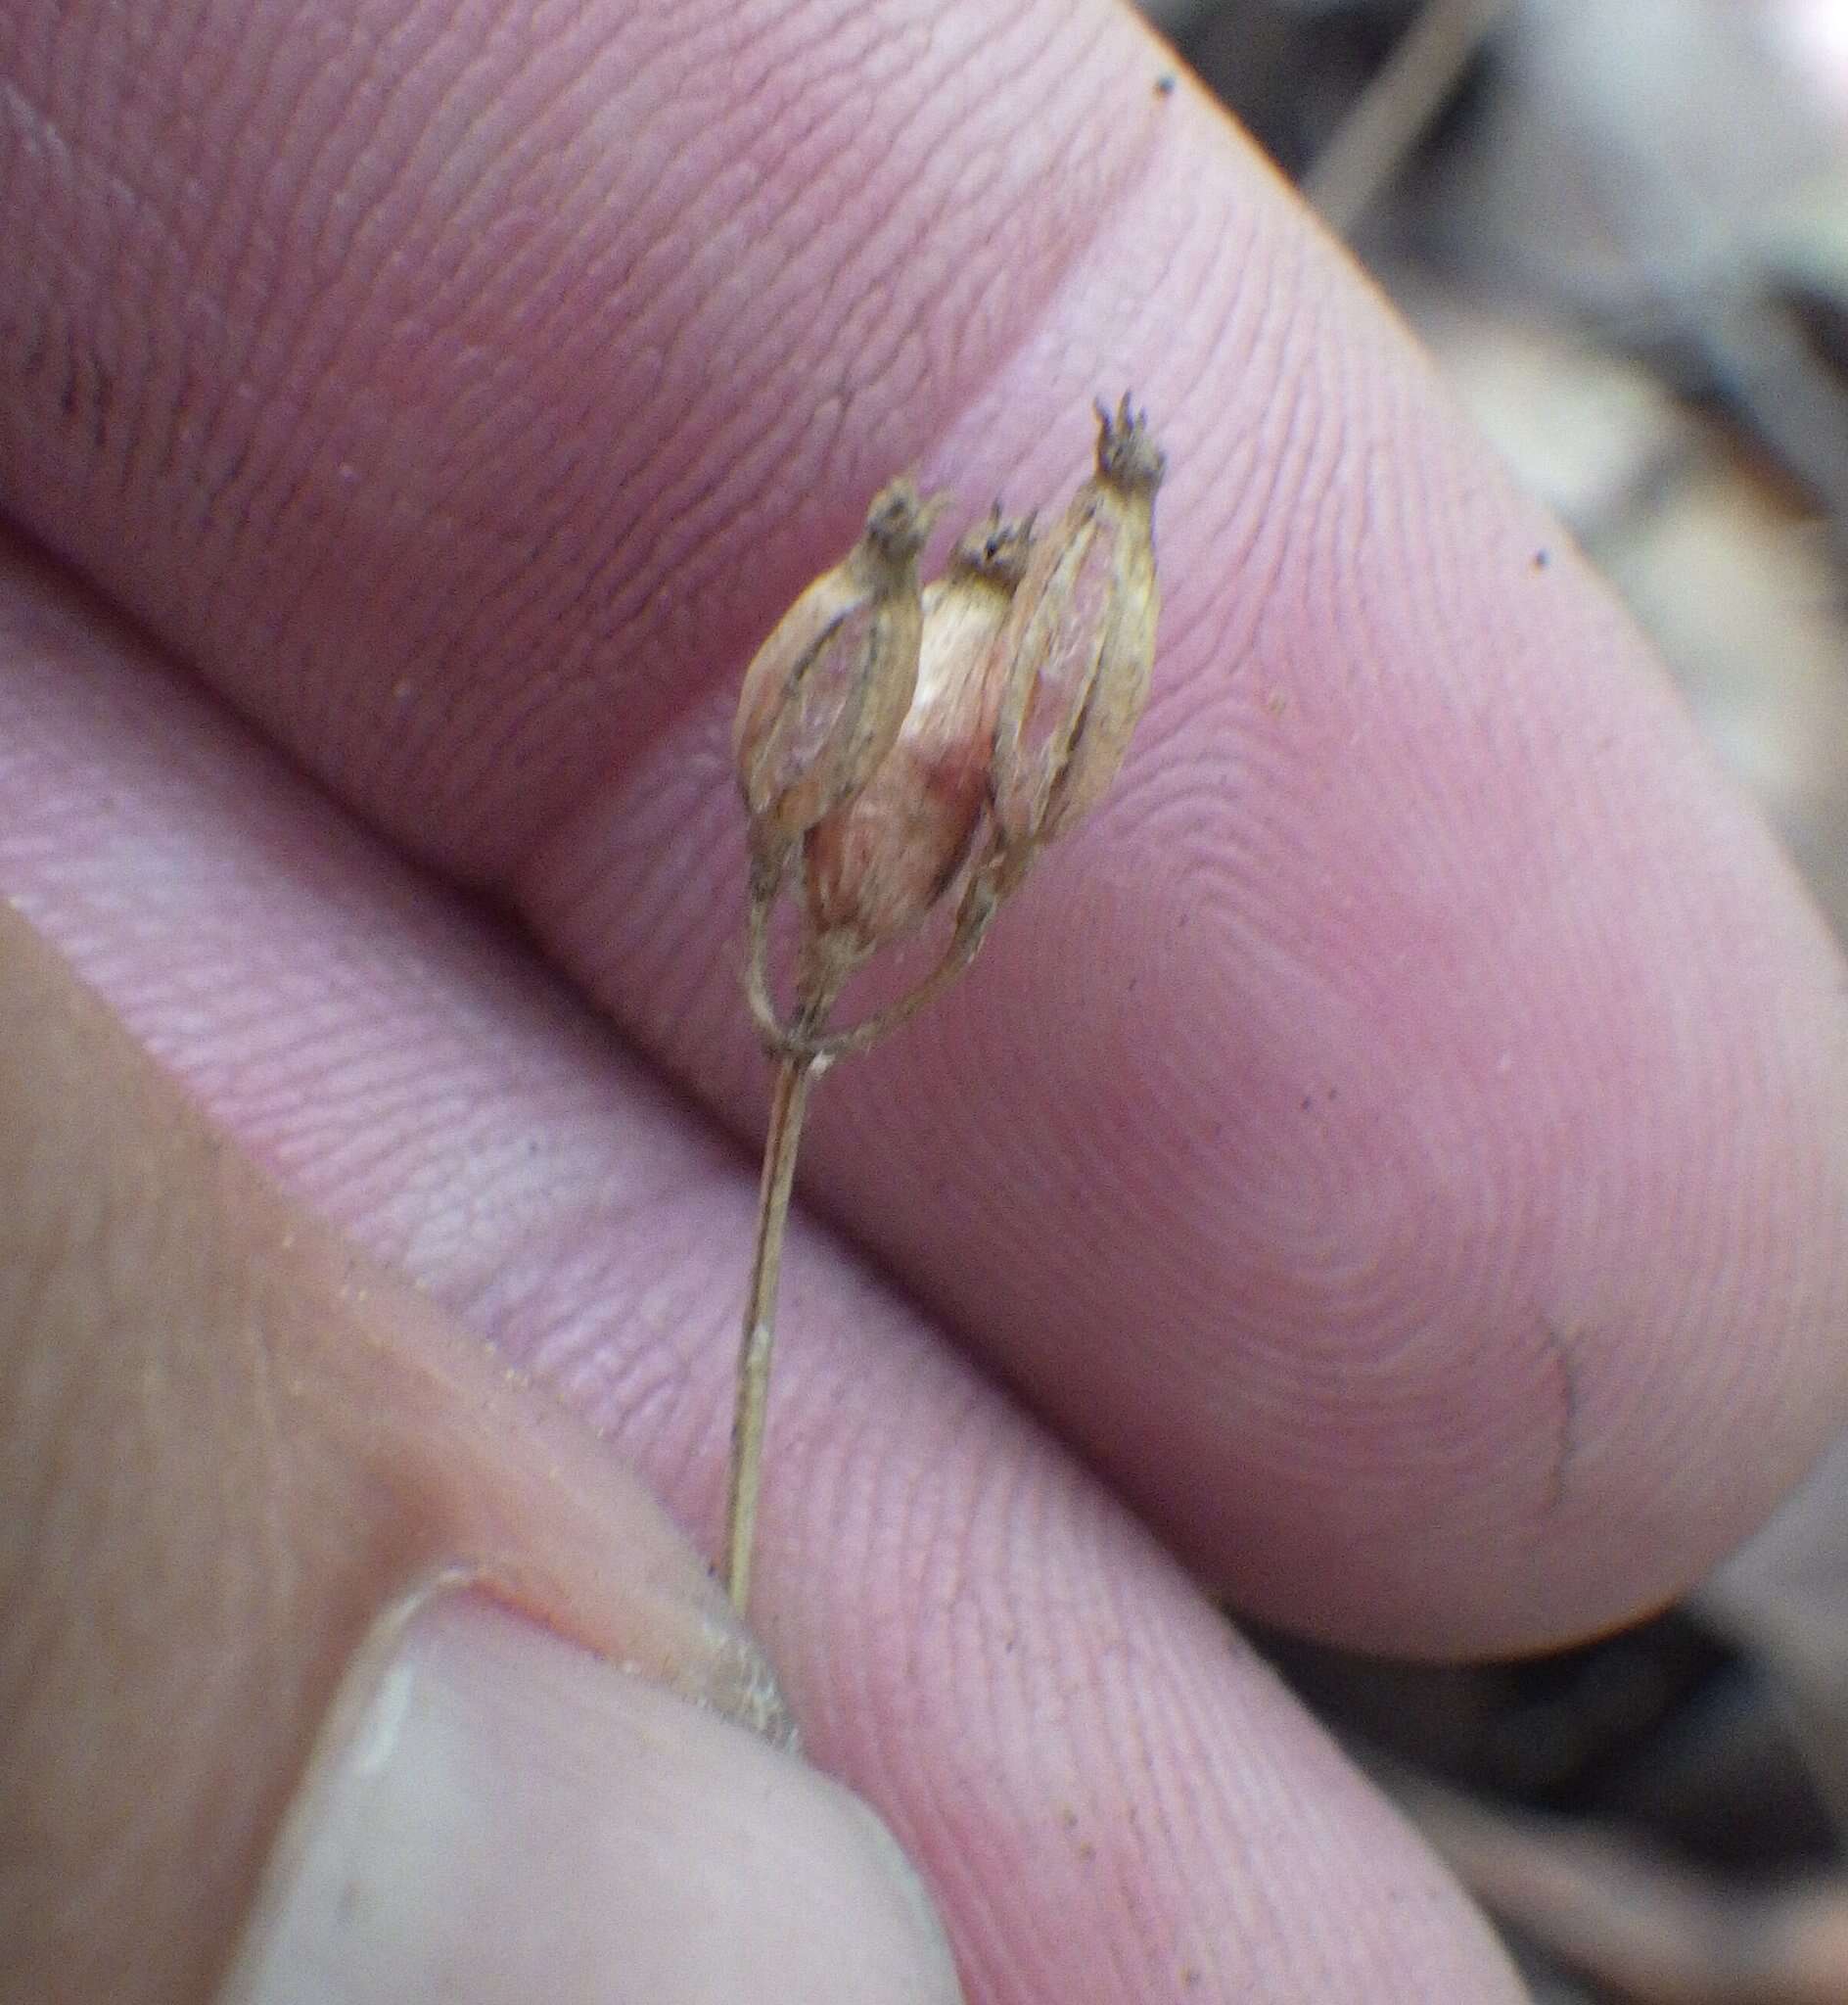
M 12 912 L 0 1039 L 6 1995 L 206 1995 L 347 1660 L 439 1580 L 784 1728 L 635 1478 L 279 1201 Z

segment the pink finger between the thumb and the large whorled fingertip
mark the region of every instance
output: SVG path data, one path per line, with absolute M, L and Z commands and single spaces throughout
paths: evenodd
M 6 894 L 228 1133 L 714 1550 L 742 1151 L 68 587 L 16 567 L 0 606 Z M 802 1219 L 788 1285 L 754 1620 L 814 1758 L 924 1871 L 972 1997 L 1515 1995 L 1096 1476 Z

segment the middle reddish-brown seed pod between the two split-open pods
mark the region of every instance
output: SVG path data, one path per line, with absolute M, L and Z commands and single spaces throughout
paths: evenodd
M 872 780 L 808 832 L 808 918 L 836 966 L 916 930 L 968 856 L 988 798 L 1004 662 L 994 640 L 1026 571 L 1030 521 L 970 529 L 924 587 L 918 688 Z

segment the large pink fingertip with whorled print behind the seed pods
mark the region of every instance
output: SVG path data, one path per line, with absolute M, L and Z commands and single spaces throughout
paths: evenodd
M 1144 742 L 832 1083 L 810 1191 L 1277 1620 L 1533 1644 L 1764 1514 L 1844 1399 L 1840 962 L 1140 30 L 349 0 L 186 68 L 80 18 L 14 30 L 68 146 L 8 180 L 12 505 L 734 1125 L 736 664 L 894 465 L 1038 499 L 1132 383 L 1175 461 Z

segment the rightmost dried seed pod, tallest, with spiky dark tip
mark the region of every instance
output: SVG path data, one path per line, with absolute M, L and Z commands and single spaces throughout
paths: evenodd
M 996 640 L 1008 664 L 992 782 L 1002 886 L 1102 800 L 1148 700 L 1167 457 L 1128 397 L 1096 415 L 1096 473 L 1034 549 Z

